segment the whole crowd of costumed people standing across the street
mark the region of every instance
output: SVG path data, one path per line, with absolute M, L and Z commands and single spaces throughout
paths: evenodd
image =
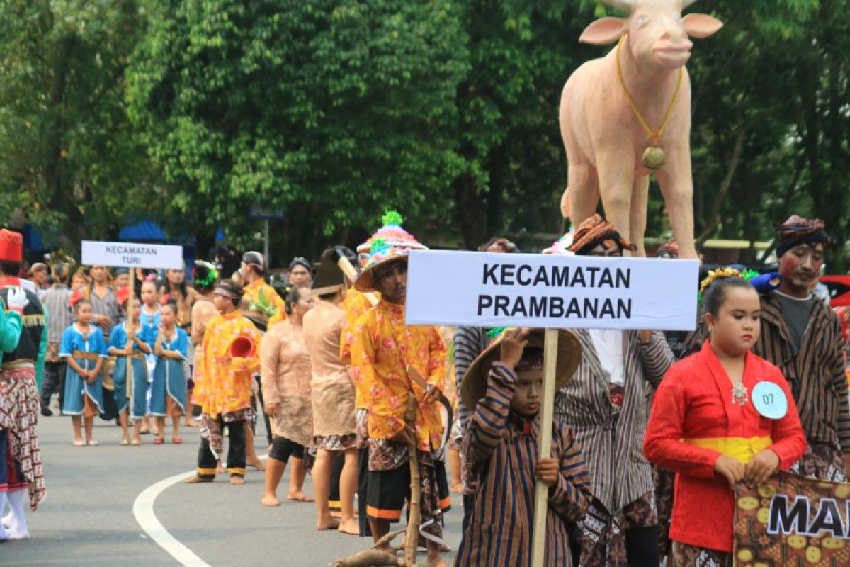
M 59 262 L 33 265 L 35 291 L 18 292 L 5 271 L 20 269 L 11 253 L 0 258 L 0 349 L 11 348 L 3 333 L 29 338 L 4 355 L 0 417 L 14 416 L 11 392 L 23 392 L 19 415 L 44 417 L 59 394 L 81 447 L 98 445 L 98 416 L 122 427 L 121 445 L 141 445 L 149 431 L 165 443 L 170 417 L 171 442 L 184 442 L 181 426 L 200 434 L 187 483 L 225 473 L 241 485 L 252 466 L 265 472 L 259 502 L 277 506 L 288 467 L 287 497 L 314 501 L 316 529 L 374 541 L 400 521 L 413 474 L 418 543 L 432 566 L 445 564 L 450 487 L 463 495 L 457 565 L 528 564 L 536 481 L 551 487 L 546 564 L 730 565 L 736 483 L 761 483 L 780 468 L 847 480 L 847 337 L 812 292 L 835 245 L 819 220 L 789 218 L 778 229 L 779 286 L 757 290 L 741 271 L 717 269 L 702 282 L 700 320 L 687 336 L 562 332 L 552 424 L 539 416 L 540 333 L 405 325 L 407 257 L 426 247 L 397 213 L 356 254 L 331 248 L 318 269 L 294 258 L 286 286 L 269 285 L 266 258 L 245 252 L 229 275 L 196 262 L 193 286 L 180 269 L 130 282 L 126 270 L 72 274 Z M 611 258 L 633 249 L 596 215 L 544 253 Z M 519 248 L 493 239 L 480 251 Z M 675 241 L 659 257 L 677 258 Z M 41 319 L 26 309 L 42 309 Z M 7 366 L 10 357 L 31 365 Z M 26 380 L 8 378 L 23 370 Z M 749 403 L 764 381 L 788 401 L 781 418 L 766 420 Z M 260 417 L 264 465 L 253 440 Z M 26 532 L 15 512 L 20 487 L 33 509 L 44 490 L 34 422 L 0 421 L 0 450 L 14 464 L 0 477 L 12 509 L 7 536 Z M 537 436 L 550 426 L 553 456 L 541 459 Z M 314 497 L 303 490 L 307 473 Z

